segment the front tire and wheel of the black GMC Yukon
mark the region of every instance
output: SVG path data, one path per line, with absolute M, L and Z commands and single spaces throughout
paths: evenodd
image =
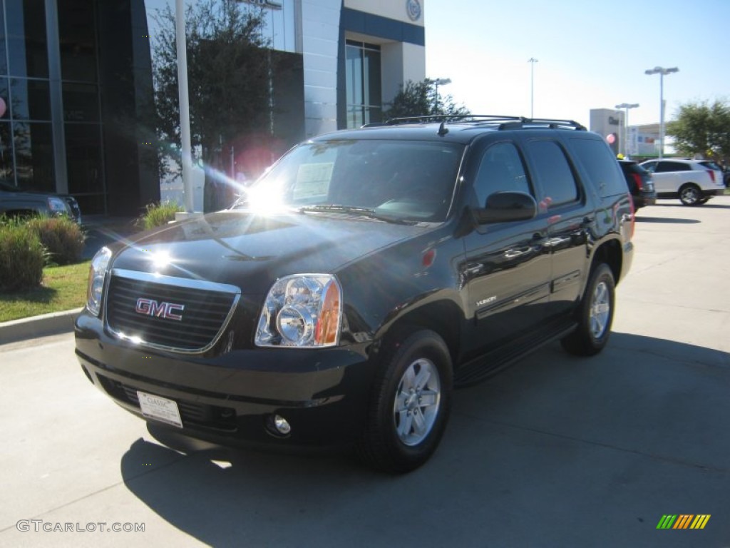
M 358 443 L 367 465 L 389 473 L 410 472 L 429 460 L 451 405 L 453 373 L 446 343 L 430 330 L 405 335 L 385 350 Z

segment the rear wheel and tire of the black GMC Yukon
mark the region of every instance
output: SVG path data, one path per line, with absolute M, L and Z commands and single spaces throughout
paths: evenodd
M 591 272 L 578 311 L 578 327 L 561 340 L 563 348 L 577 356 L 593 356 L 603 350 L 611 334 L 615 305 L 615 281 L 605 263 Z

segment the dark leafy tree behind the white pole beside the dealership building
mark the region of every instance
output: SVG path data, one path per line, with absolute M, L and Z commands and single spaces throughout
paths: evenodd
M 159 27 L 153 42 L 157 134 L 161 153 L 180 165 L 175 15 L 169 4 L 155 13 L 155 20 Z M 224 152 L 231 143 L 251 134 L 269 136 L 272 56 L 263 28 L 263 10 L 242 8 L 235 0 L 196 1 L 185 12 L 191 153 L 196 158 L 199 150 L 206 167 L 206 210 L 225 205 L 225 200 L 215 197 L 220 187 L 215 170 L 226 171 Z

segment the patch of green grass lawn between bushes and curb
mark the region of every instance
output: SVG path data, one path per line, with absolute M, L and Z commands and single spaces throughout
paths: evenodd
M 42 286 L 0 293 L 0 321 L 80 308 L 86 303 L 89 262 L 43 269 Z

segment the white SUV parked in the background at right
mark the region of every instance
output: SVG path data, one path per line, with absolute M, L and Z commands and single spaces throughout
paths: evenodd
M 723 194 L 722 170 L 712 161 L 662 159 L 640 164 L 653 174 L 657 198 L 679 198 L 684 205 L 701 205 Z

